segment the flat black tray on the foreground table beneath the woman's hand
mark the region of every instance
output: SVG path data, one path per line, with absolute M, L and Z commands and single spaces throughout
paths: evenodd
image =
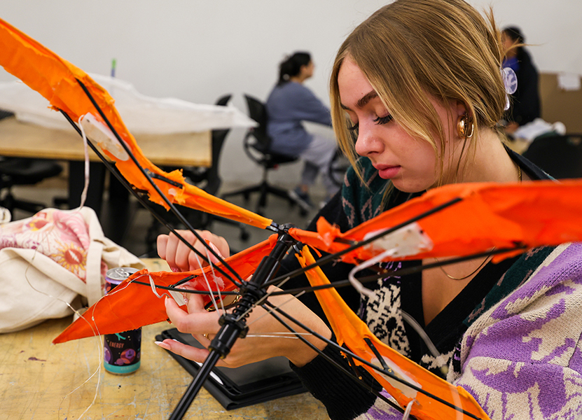
M 167 338 L 202 348 L 192 335 L 179 332 L 176 328 L 162 331 L 155 337 L 158 341 Z M 171 351 L 169 354 L 193 377 L 198 374 L 198 363 Z M 270 358 L 241 367 L 214 367 L 204 387 L 226 409 L 247 407 L 307 391 L 289 367 L 289 360 L 284 357 Z

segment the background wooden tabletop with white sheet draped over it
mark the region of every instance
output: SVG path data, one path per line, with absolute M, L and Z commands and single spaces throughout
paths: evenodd
M 212 165 L 210 132 L 139 134 L 137 144 L 155 165 L 176 167 Z M 73 130 L 57 130 L 20 123 L 16 118 L 0 121 L 0 155 L 18 158 L 84 160 L 83 140 Z M 90 160 L 97 155 L 90 151 Z

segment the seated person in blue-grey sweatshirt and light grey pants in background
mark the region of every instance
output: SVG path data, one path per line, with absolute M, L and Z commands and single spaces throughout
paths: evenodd
M 307 132 L 302 123 L 311 121 L 331 127 L 329 109 L 303 85 L 313 76 L 313 71 L 314 64 L 308 52 L 295 52 L 284 59 L 279 64 L 279 80 L 266 104 L 271 150 L 299 156 L 304 162 L 301 181 L 289 195 L 306 210 L 312 207 L 309 188 L 319 173 L 326 188 L 326 200 L 338 191 L 338 186 L 328 175 L 328 167 L 337 148 L 335 141 Z

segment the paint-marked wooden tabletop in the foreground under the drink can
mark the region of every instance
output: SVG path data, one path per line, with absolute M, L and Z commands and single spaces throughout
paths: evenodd
M 148 266 L 158 269 L 151 263 Z M 142 328 L 141 367 L 127 375 L 111 374 L 102 367 L 102 337 L 51 344 L 69 323 L 71 317 L 49 320 L 0 335 L 0 420 L 169 417 L 193 378 L 153 343 L 155 335 L 171 328 L 167 322 Z M 227 411 L 202 388 L 183 419 L 318 420 L 328 416 L 309 393 Z

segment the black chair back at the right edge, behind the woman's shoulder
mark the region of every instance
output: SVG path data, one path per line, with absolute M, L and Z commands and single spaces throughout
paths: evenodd
M 582 178 L 582 134 L 544 134 L 523 153 L 556 179 Z

